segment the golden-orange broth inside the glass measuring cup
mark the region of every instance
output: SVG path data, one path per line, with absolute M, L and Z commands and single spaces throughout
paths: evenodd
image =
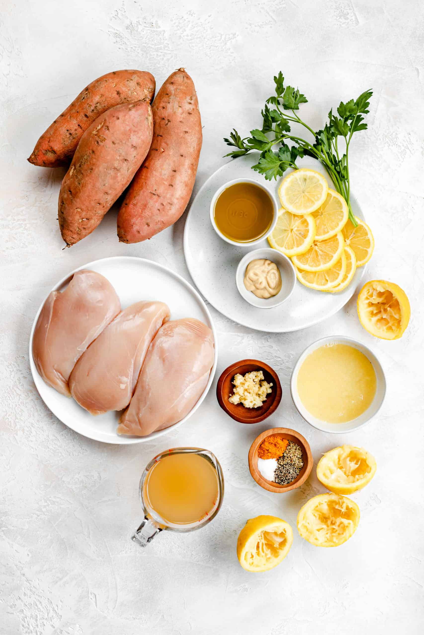
M 218 493 L 214 466 L 202 455 L 189 452 L 161 458 L 143 486 L 147 508 L 174 525 L 189 525 L 208 516 Z

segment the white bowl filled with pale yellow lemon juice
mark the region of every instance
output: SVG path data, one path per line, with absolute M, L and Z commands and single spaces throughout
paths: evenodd
M 350 337 L 332 336 L 303 351 L 292 371 L 293 403 L 323 432 L 351 432 L 380 410 L 386 378 L 373 351 Z

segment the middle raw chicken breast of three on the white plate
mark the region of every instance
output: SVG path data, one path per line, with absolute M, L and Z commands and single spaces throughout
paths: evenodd
M 69 377 L 79 405 L 92 415 L 127 408 L 147 349 L 168 319 L 163 302 L 136 302 L 106 326 Z

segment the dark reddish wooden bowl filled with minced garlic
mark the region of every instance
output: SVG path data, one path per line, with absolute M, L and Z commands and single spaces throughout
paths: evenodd
M 259 424 L 279 406 L 282 389 L 278 375 L 257 359 L 242 359 L 219 377 L 216 396 L 222 410 L 242 424 Z

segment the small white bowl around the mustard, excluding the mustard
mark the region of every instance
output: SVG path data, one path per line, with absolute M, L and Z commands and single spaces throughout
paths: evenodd
M 245 272 L 248 265 L 256 260 L 270 260 L 280 272 L 281 276 L 281 289 L 276 295 L 270 298 L 258 298 L 253 291 L 247 290 L 245 287 Z M 262 249 L 255 249 L 249 251 L 240 260 L 236 269 L 236 286 L 238 292 L 246 302 L 249 302 L 257 309 L 273 309 L 278 305 L 288 300 L 292 295 L 294 286 L 296 285 L 296 272 L 290 258 L 280 253 L 271 247 L 263 247 Z

